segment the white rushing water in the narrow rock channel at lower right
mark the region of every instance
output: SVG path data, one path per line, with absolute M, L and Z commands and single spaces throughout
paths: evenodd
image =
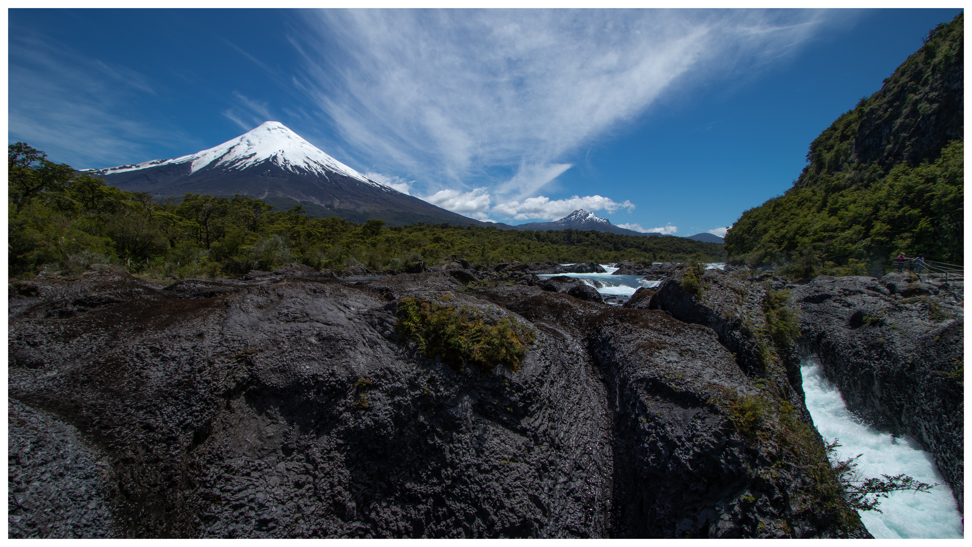
M 857 456 L 861 478 L 905 473 L 916 480 L 939 486 L 928 493 L 897 492 L 882 499 L 883 512 L 861 511 L 867 530 L 878 538 L 961 538 L 962 515 L 952 489 L 942 479 L 930 454 L 908 437 L 894 437 L 853 417 L 837 387 L 823 374 L 816 359 L 801 363 L 807 408 L 824 439 L 840 439 L 834 455 L 840 460 Z

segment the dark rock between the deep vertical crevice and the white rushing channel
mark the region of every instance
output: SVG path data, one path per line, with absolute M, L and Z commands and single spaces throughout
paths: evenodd
M 796 499 L 790 458 L 746 442 L 719 401 L 756 393 L 711 328 L 661 310 L 599 316 L 592 353 L 614 407 L 614 513 L 626 537 L 845 536 Z M 753 472 L 777 460 L 776 472 Z M 805 480 L 805 479 L 804 479 Z M 867 537 L 862 526 L 851 536 Z

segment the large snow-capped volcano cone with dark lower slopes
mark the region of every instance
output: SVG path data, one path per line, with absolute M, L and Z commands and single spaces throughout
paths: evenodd
M 298 202 L 308 212 L 314 209 L 316 216 L 337 215 L 357 222 L 486 225 L 369 180 L 279 121 L 264 121 L 195 154 L 87 172 L 103 177 L 109 185 L 156 197 L 241 193 L 280 207 Z

